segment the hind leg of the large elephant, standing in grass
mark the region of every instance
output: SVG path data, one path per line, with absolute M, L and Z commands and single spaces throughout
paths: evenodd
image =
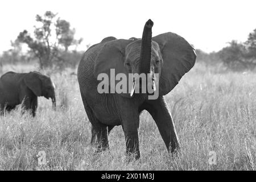
M 87 104 L 85 97 L 82 94 L 81 96 L 86 114 L 89 118 L 90 123 L 92 124 L 92 139 L 90 140 L 90 142 L 91 144 L 93 144 L 97 136 L 96 143 L 98 146 L 98 151 L 106 150 L 107 148 L 109 148 L 108 126 L 100 123 L 100 121 L 94 115 L 92 109 L 90 109 L 90 106 Z

